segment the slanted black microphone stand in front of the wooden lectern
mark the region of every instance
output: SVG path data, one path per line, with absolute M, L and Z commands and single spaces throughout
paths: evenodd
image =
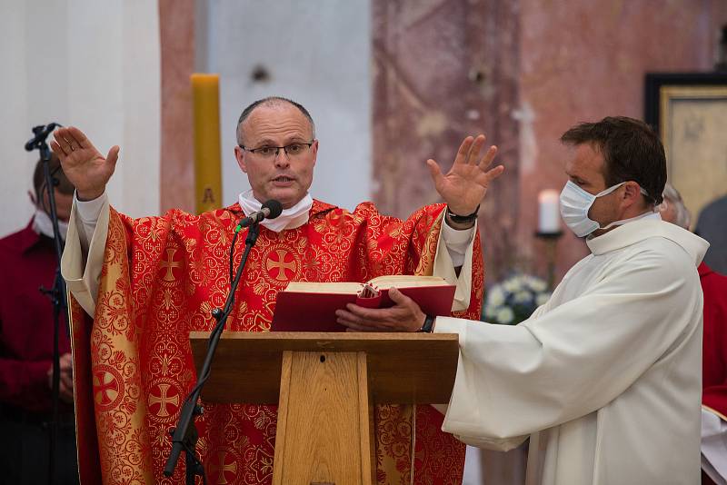
M 237 226 L 234 231 L 233 243 L 230 247 L 230 262 L 232 268 L 234 242 L 237 239 L 237 234 L 240 232 L 241 226 Z M 199 434 L 194 423 L 196 416 L 201 415 L 204 409 L 199 404 L 199 395 L 204 387 L 204 382 L 210 376 L 210 368 L 212 366 L 212 360 L 214 358 L 214 351 L 217 349 L 217 344 L 220 341 L 222 332 L 224 330 L 224 323 L 227 322 L 227 317 L 233 311 L 234 304 L 234 293 L 237 290 L 237 285 L 240 283 L 240 279 L 243 275 L 244 263 L 247 262 L 247 256 L 250 250 L 253 248 L 254 243 L 257 241 L 257 236 L 260 233 L 260 227 L 257 223 L 250 226 L 247 231 L 247 237 L 245 238 L 245 247 L 243 253 L 243 259 L 240 265 L 237 267 L 237 272 L 234 275 L 234 279 L 230 282 L 230 293 L 227 295 L 227 300 L 224 302 L 224 308 L 220 310 L 215 308 L 212 311 L 212 316 L 217 323 L 214 325 L 213 331 L 210 333 L 209 343 L 207 344 L 207 354 L 204 357 L 204 363 L 202 369 L 199 372 L 197 378 L 197 384 L 194 389 L 184 400 L 184 406 L 179 414 L 179 421 L 177 421 L 176 428 L 170 430 L 172 434 L 172 451 L 169 454 L 169 458 L 166 460 L 164 466 L 164 476 L 171 477 L 176 468 L 176 462 L 179 460 L 179 455 L 184 450 L 184 464 L 186 466 L 186 485 L 194 485 L 195 477 L 202 477 L 202 482 L 207 483 L 207 478 L 204 474 L 204 467 L 202 462 L 197 457 L 196 444 Z M 230 273 L 232 276 L 232 271 Z

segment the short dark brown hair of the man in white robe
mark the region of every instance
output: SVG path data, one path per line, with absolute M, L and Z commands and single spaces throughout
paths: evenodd
M 652 203 L 662 203 L 666 156 L 648 124 L 626 116 L 608 116 L 598 123 L 576 124 L 561 136 L 563 144 L 593 144 L 603 154 L 606 187 L 633 181 Z

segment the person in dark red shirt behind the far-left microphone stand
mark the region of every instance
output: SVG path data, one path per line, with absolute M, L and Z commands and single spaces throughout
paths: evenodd
M 62 239 L 74 186 L 53 155 L 55 204 Z M 30 223 L 0 239 L 0 481 L 48 483 L 52 424 L 53 304 L 39 291 L 52 289 L 58 265 L 43 164 L 35 165 L 35 205 Z M 71 346 L 65 312 L 60 320 L 60 405 L 55 483 L 77 483 Z

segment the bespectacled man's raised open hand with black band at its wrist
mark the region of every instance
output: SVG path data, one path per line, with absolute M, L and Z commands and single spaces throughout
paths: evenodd
M 474 213 L 477 206 L 483 201 L 490 183 L 502 175 L 505 170 L 503 165 L 489 168 L 497 153 L 496 146 L 491 146 L 480 157 L 484 140 L 483 134 L 476 138 L 466 137 L 454 158 L 452 169 L 446 174 L 442 173 L 439 164 L 432 159 L 426 161 L 432 174 L 434 187 L 447 203 L 450 212 L 454 214 Z

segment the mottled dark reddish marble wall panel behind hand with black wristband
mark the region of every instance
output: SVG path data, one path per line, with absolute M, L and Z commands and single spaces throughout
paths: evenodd
M 467 134 L 487 134 L 507 171 L 480 224 L 486 268 L 516 259 L 519 142 L 518 1 L 373 0 L 373 199 L 406 216 L 441 202 L 427 158 L 448 171 Z

